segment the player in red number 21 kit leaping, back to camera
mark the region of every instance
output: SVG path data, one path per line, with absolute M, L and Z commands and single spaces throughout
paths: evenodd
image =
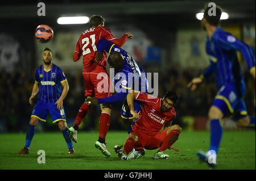
M 127 38 L 133 36 L 131 33 L 125 33 L 120 39 L 117 39 L 112 35 L 112 32 L 108 28 L 104 27 L 104 18 L 100 15 L 92 15 L 90 17 L 90 28 L 81 33 L 81 36 L 76 44 L 76 50 L 73 55 L 73 61 L 78 61 L 81 56 L 84 70 L 82 75 L 85 82 L 85 96 L 92 96 L 96 98 L 106 98 L 111 95 L 110 91 L 110 78 L 106 71 L 106 54 L 98 62 L 95 60 L 97 53 L 97 44 L 101 39 L 112 41 L 112 43 L 122 47 L 125 44 Z M 98 84 L 101 82 L 100 84 Z M 102 84 L 102 82 L 104 82 Z M 108 90 L 99 92 L 97 89 L 102 89 L 104 85 L 109 85 Z M 77 113 L 75 123 L 69 128 L 69 135 L 74 142 L 77 142 L 77 130 L 84 117 L 89 112 L 90 108 L 88 104 L 84 103 L 80 107 Z M 109 129 L 110 124 L 110 104 L 101 104 L 101 117 L 100 117 L 100 135 L 98 141 L 96 141 L 96 148 L 100 149 L 104 155 L 110 156 L 109 151 L 106 149 L 105 137 Z

